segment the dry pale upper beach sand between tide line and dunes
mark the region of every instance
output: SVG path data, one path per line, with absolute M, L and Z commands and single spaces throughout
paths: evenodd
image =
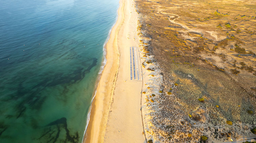
M 140 112 L 142 81 L 130 80 L 130 47 L 138 47 L 139 44 L 137 35 L 138 14 L 135 11 L 133 1 L 124 1 L 123 6 L 124 21 L 117 37 L 117 47 L 120 53 L 118 75 L 106 124 L 104 142 L 143 143 L 145 138 Z

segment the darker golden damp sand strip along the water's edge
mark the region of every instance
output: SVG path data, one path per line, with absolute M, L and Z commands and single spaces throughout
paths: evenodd
M 104 52 L 106 53 L 104 56 L 104 60 L 106 60 L 106 63 L 103 67 L 103 70 L 101 71 L 100 79 L 97 85 L 97 88 L 95 90 L 95 95 L 92 98 L 91 102 L 91 109 L 89 112 L 89 122 L 87 125 L 87 128 L 84 133 L 83 137 L 83 143 L 85 142 L 103 142 L 103 136 L 104 134 L 104 124 L 106 123 L 106 117 L 108 116 L 108 112 L 106 110 L 109 109 L 110 101 L 108 102 L 108 99 L 111 98 L 111 89 L 114 88 L 114 82 L 111 83 L 111 81 L 115 81 L 115 78 L 117 76 L 117 69 L 118 64 L 114 63 L 114 59 L 118 59 L 119 55 L 115 54 L 118 53 L 117 45 L 115 43 L 115 39 L 117 38 L 118 29 L 120 29 L 120 20 L 122 19 L 121 10 L 123 6 L 123 0 L 119 1 L 119 7 L 117 10 L 117 19 L 115 24 L 113 25 L 112 29 L 110 30 L 109 38 L 107 39 L 108 42 L 106 42 L 104 46 Z M 119 59 L 118 59 L 119 62 Z M 110 72 L 110 71 L 116 71 L 116 72 Z M 111 74 L 109 74 L 111 73 Z M 113 77 L 114 75 L 114 77 Z M 107 83 L 108 82 L 108 83 Z M 104 84 L 105 83 L 105 84 Z M 106 90 L 106 92 L 100 92 L 102 90 Z M 98 102 L 104 101 L 101 105 L 98 104 Z M 96 117 L 100 117 L 95 119 Z M 105 117 L 105 118 L 104 118 Z M 88 118 L 88 117 L 87 117 Z M 102 126 L 103 125 L 103 126 Z M 102 136 L 103 134 L 103 136 Z

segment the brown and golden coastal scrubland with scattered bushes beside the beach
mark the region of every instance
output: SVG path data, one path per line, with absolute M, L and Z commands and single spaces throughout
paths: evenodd
M 255 136 L 255 1 L 136 0 L 136 10 L 142 68 L 159 83 L 142 92 L 148 140 Z

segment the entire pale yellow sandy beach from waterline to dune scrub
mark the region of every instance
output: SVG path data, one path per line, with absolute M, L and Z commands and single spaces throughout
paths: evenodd
M 137 20 L 134 2 L 120 0 L 118 19 L 106 44 L 107 62 L 92 104 L 86 143 L 145 142 L 140 111 L 142 81 L 130 80 L 130 47 L 139 44 Z

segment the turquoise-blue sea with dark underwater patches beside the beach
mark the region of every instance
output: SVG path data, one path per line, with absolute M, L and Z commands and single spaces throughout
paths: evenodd
M 118 0 L 0 0 L 0 142 L 82 142 Z

